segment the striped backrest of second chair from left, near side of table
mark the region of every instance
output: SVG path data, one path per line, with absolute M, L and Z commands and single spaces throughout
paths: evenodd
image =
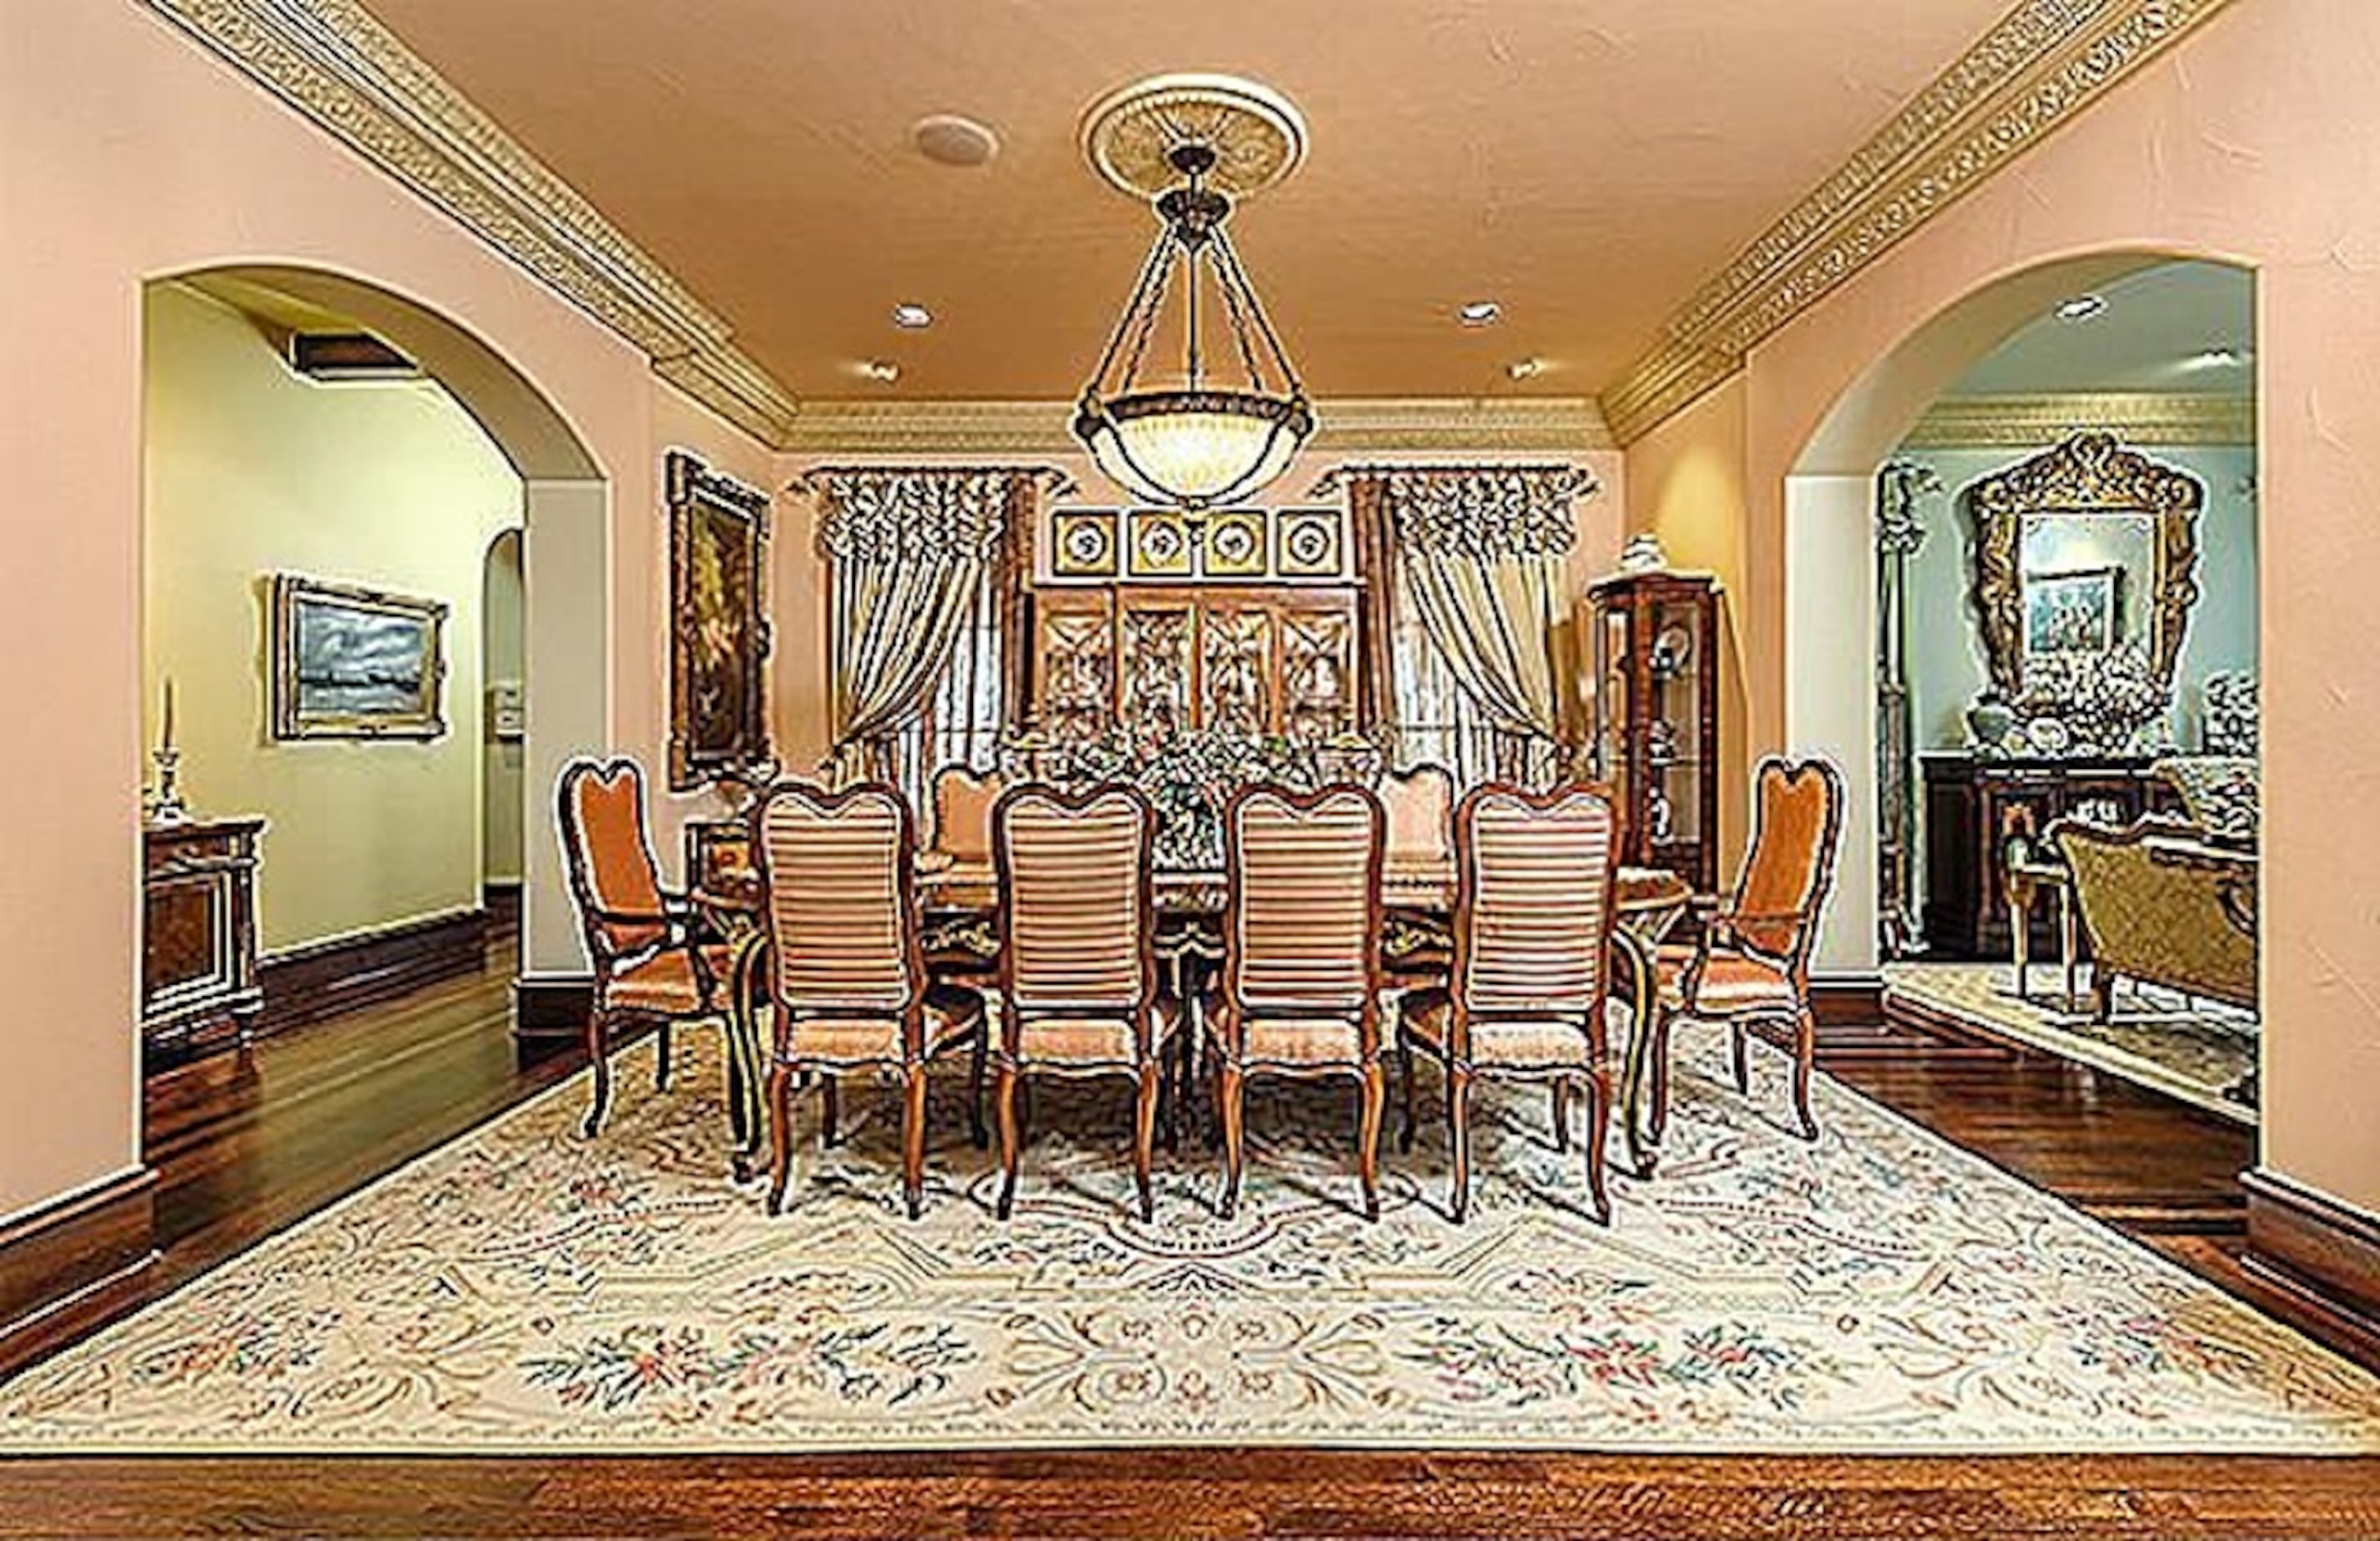
M 1012 786 L 992 805 L 1000 974 L 1023 1012 L 1133 1012 L 1157 996 L 1150 846 L 1157 810 L 1130 786 L 1078 796 Z

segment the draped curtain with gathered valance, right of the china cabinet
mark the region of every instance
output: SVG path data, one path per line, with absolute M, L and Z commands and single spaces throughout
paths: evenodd
M 1590 491 L 1595 481 L 1568 467 L 1380 469 L 1349 483 L 1349 507 L 1385 507 L 1397 598 L 1504 738 L 1495 753 L 1504 779 L 1547 781 L 1561 765 L 1554 638 L 1571 503 Z

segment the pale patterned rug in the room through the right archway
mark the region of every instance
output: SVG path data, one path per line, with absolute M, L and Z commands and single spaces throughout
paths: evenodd
M 2090 967 L 2085 965 L 2085 977 Z M 2175 991 L 2121 981 L 2106 1022 L 2059 998 L 2059 967 L 2035 965 L 2033 993 L 2016 993 L 2004 962 L 1887 962 L 1885 1007 L 1952 1017 L 2002 1038 L 2090 1065 L 2225 1117 L 2256 1122 L 2256 1015 Z

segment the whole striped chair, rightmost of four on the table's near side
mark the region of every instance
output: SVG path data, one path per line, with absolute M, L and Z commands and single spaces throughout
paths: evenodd
M 1611 979 L 1611 865 L 1618 812 L 1602 786 L 1526 793 L 1488 784 L 1454 810 L 1454 969 L 1445 986 L 1409 991 L 1399 1007 L 1404 1143 L 1414 1143 L 1414 1050 L 1445 1069 L 1454 1146 L 1452 1212 L 1471 1210 L 1471 1081 L 1552 1081 L 1587 1091 L 1587 1191 L 1611 1219 L 1604 1134 L 1611 1127 L 1611 1055 L 1604 993 Z M 1568 1098 L 1554 1098 L 1554 1136 L 1568 1148 Z

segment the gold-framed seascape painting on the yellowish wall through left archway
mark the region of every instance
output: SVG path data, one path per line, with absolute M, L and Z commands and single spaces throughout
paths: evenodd
M 440 600 L 271 579 L 274 738 L 438 738 Z

